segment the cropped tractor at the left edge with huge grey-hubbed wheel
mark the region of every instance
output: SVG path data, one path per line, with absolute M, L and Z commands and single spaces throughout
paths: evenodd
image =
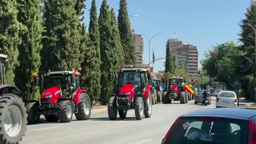
M 7 55 L 0 54 L 0 143 L 19 143 L 25 135 L 27 113 L 16 86 L 4 84 Z

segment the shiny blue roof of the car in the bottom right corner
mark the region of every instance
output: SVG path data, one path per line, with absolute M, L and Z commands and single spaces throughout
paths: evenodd
M 194 111 L 187 115 L 184 115 L 184 117 L 187 116 L 212 116 L 237 119 L 250 119 L 251 117 L 256 116 L 256 110 L 246 108 L 211 108 Z

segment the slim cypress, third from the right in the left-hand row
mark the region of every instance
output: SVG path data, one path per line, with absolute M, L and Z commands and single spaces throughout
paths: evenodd
M 109 5 L 103 0 L 100 8 L 99 30 L 100 30 L 100 55 L 101 55 L 101 94 L 100 99 L 103 104 L 107 103 L 108 94 L 113 90 L 113 83 L 108 81 L 110 69 L 113 69 L 115 59 L 111 26 L 111 15 Z

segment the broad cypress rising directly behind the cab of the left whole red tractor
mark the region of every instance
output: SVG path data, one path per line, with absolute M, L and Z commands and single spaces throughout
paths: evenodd
M 81 66 L 81 33 L 76 1 L 45 0 L 44 69 L 71 70 Z

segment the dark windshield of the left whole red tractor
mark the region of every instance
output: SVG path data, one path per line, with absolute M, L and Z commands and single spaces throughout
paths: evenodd
M 59 86 L 61 90 L 68 89 L 68 76 L 48 76 L 44 80 L 44 90 Z

